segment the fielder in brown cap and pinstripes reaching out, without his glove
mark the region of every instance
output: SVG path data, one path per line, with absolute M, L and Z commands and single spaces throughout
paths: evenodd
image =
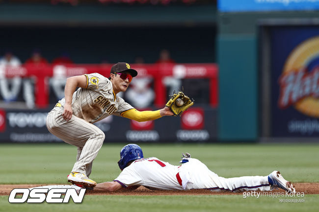
M 92 73 L 67 79 L 65 97 L 49 112 L 46 125 L 53 135 L 78 147 L 76 163 L 68 175 L 69 182 L 84 187 L 96 186 L 96 182 L 88 176 L 105 134 L 92 123 L 110 115 L 136 121 L 173 115 L 168 107 L 157 111 L 137 111 L 116 95 L 125 92 L 136 75 L 137 71 L 128 63 L 120 62 L 112 66 L 109 78 Z M 79 89 L 75 92 L 77 87 Z

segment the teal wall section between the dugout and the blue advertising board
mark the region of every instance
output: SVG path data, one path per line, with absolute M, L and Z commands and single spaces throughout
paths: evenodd
M 219 12 L 216 54 L 220 83 L 220 141 L 259 141 L 263 136 L 265 116 L 261 107 L 263 94 L 260 93 L 263 23 L 316 24 L 318 17 L 318 11 Z

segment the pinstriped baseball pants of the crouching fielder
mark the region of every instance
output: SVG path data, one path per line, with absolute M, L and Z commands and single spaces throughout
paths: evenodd
M 78 147 L 77 159 L 72 171 L 89 176 L 93 160 L 102 147 L 105 134 L 97 126 L 74 115 L 71 120 L 66 121 L 62 118 L 62 113 L 63 108 L 54 107 L 47 116 L 47 128 L 62 141 Z

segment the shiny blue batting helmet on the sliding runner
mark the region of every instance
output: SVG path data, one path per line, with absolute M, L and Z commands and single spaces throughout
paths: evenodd
M 137 144 L 128 144 L 121 149 L 120 160 L 117 162 L 121 170 L 123 170 L 126 165 L 133 160 L 143 158 L 143 151 L 141 147 Z

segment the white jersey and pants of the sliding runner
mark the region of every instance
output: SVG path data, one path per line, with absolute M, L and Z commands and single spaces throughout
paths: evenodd
M 194 188 L 216 191 L 271 190 L 268 176 L 223 178 L 194 158 L 188 159 L 187 163 L 180 166 L 171 165 L 154 157 L 136 160 L 124 168 L 114 181 L 123 187 L 145 186 L 168 190 Z

